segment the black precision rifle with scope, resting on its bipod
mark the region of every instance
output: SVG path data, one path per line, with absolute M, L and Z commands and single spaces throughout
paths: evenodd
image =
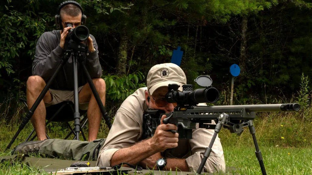
M 262 154 L 256 140 L 256 129 L 253 120 L 256 118 L 256 112 L 278 112 L 278 111 L 299 111 L 300 105 L 297 103 L 288 104 L 256 104 L 256 105 L 226 105 L 226 106 L 199 106 L 200 103 L 215 103 L 219 99 L 219 91 L 212 86 L 212 80 L 209 76 L 199 76 L 195 80 L 198 85 L 205 87 L 193 90 L 192 85 L 183 85 L 183 90 L 178 91 L 180 85 L 169 84 L 166 100 L 168 103 L 177 103 L 173 112 L 165 113 L 163 110 L 148 110 L 144 114 L 143 138 L 154 136 L 155 130 L 160 125 L 162 115 L 164 124 L 174 124 L 178 127 L 179 139 L 192 139 L 192 130 L 199 128 L 214 129 L 214 134 L 209 146 L 204 152 L 204 157 L 197 170 L 197 174 L 202 172 L 204 165 L 212 151 L 212 145 L 217 134 L 223 128 L 229 129 L 231 133 L 241 135 L 243 127 L 248 126 L 256 148 L 256 157 L 259 161 L 261 172 L 266 174 L 263 164 Z M 211 124 L 212 120 L 215 125 Z

